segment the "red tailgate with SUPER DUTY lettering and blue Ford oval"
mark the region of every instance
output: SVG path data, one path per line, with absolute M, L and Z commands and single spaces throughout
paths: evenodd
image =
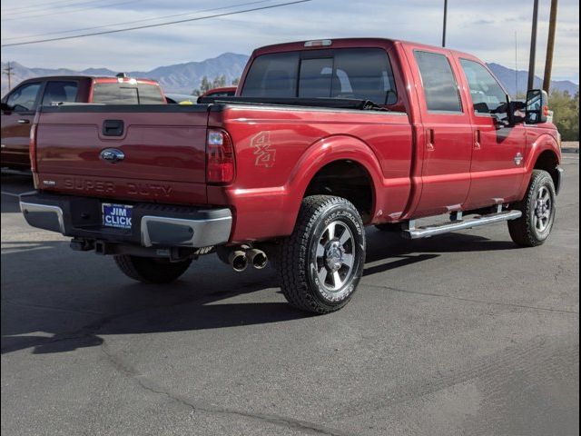
M 37 183 L 59 193 L 206 203 L 207 123 L 205 105 L 44 107 Z

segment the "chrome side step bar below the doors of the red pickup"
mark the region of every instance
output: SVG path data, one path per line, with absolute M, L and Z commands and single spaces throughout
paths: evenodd
M 497 213 L 490 213 L 487 215 L 477 215 L 468 220 L 462 219 L 462 213 L 458 212 L 454 221 L 450 223 L 426 225 L 423 227 L 416 227 L 414 220 L 409 221 L 408 226 L 403 231 L 403 236 L 408 239 L 429 238 L 437 234 L 456 232 L 458 230 L 471 229 L 480 225 L 487 225 L 493 223 L 500 223 L 501 221 L 510 221 L 520 218 L 522 212 L 520 211 L 503 211 Z

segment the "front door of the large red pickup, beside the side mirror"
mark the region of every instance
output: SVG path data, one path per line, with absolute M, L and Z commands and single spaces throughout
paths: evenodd
M 507 93 L 484 64 L 462 57 L 458 62 L 468 83 L 475 137 L 467 207 L 515 201 L 525 175 L 525 125 L 508 124 Z

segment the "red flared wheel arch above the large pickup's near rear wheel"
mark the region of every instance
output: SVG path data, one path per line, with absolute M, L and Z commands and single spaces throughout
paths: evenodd
M 325 165 L 336 161 L 349 160 L 359 163 L 369 174 L 373 185 L 374 204 L 372 215 L 378 208 L 376 193 L 381 192 L 383 175 L 379 165 L 379 159 L 368 144 L 354 136 L 340 134 L 327 136 L 310 145 L 300 156 L 298 163 L 293 167 L 285 191 L 287 204 L 285 209 L 294 211 L 289 217 L 288 225 L 294 228 L 300 209 L 300 203 L 307 191 L 309 183 L 316 173 Z

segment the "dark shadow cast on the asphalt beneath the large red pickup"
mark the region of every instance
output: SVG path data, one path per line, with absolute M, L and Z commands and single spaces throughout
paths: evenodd
M 365 275 L 441 253 L 513 247 L 461 233 L 409 243 L 397 235 L 368 232 L 368 263 L 388 262 L 369 266 Z M 27 348 L 34 353 L 68 352 L 99 346 L 106 335 L 194 332 L 312 316 L 280 296 L 258 295 L 279 287 L 272 269 L 236 274 L 212 256 L 194 263 L 182 280 L 149 285 L 128 282 L 111 259 L 69 252 L 67 245 L 11 242 L 3 246 L 3 354 Z M 230 301 L 233 298 L 235 302 Z

